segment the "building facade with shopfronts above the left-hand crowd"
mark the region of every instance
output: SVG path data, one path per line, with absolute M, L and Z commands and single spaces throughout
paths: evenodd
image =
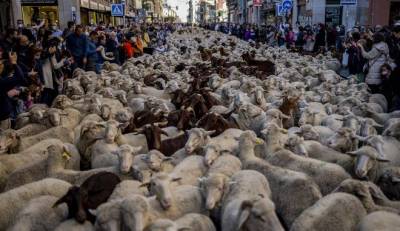
M 0 4 L 7 3 L 0 1 Z M 111 16 L 111 4 L 114 3 L 122 3 L 122 0 L 11 0 L 11 24 L 8 25 L 16 26 L 19 19 L 25 25 L 46 19 L 48 23 L 57 23 L 61 28 L 65 28 L 68 21 L 85 25 L 100 22 L 119 25 L 123 23 L 122 17 Z M 125 5 L 126 20 L 136 20 L 140 15 L 142 0 L 125 0 Z

